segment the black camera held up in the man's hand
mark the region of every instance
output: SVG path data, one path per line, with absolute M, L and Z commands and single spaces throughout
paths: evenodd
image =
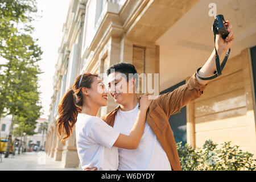
M 225 20 L 223 15 L 215 16 L 215 19 L 212 25 L 212 31 L 214 32 L 214 34 L 220 34 L 221 37 L 225 40 L 226 37 L 229 35 L 229 32 L 228 30 L 226 30 L 224 23 L 225 23 Z

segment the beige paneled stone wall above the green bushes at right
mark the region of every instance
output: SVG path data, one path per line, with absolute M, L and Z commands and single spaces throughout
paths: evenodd
M 256 154 L 250 61 L 249 49 L 229 59 L 222 76 L 210 81 L 203 96 L 188 105 L 189 144 L 232 141 Z

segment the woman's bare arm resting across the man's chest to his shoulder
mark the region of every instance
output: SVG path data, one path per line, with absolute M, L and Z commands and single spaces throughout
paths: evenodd
M 139 107 L 137 119 L 130 131 L 130 135 L 119 134 L 113 146 L 126 149 L 136 149 L 138 147 L 145 127 L 147 109 L 151 101 L 152 100 L 148 100 L 147 94 L 141 97 L 139 101 L 141 106 Z

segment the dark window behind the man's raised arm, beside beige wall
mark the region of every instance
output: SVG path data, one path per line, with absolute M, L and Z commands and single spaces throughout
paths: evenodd
M 185 81 L 181 81 L 179 84 L 171 86 L 170 88 L 163 90 L 160 94 L 172 92 L 181 85 L 184 85 Z M 187 110 L 186 107 L 182 107 L 181 110 L 176 111 L 169 118 L 169 123 L 174 134 L 175 142 L 182 142 L 184 145 L 187 143 Z

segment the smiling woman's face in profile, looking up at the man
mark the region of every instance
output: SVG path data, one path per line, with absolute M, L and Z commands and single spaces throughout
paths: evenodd
M 108 104 L 108 90 L 106 90 L 101 78 L 95 77 L 90 89 L 88 89 L 88 97 L 98 106 L 106 106 Z

